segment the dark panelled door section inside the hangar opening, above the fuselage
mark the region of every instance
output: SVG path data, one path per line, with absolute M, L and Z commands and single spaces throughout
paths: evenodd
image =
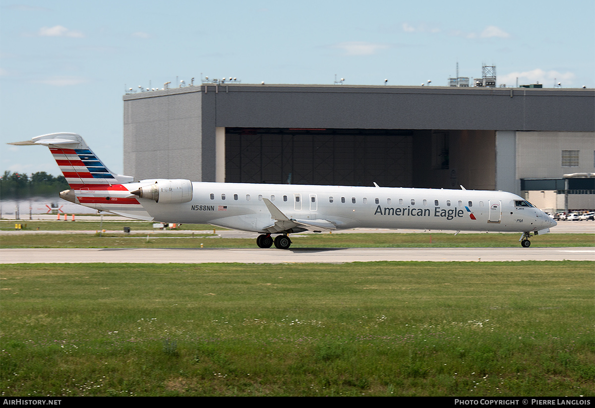
M 226 128 L 226 182 L 412 186 L 413 131 Z

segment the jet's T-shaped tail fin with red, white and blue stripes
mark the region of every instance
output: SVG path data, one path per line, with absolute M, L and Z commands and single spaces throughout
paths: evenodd
M 119 175 L 108 168 L 89 149 L 83 138 L 76 133 L 51 133 L 33 137 L 24 142 L 10 145 L 42 145 L 48 146 L 54 155 L 62 174 L 71 189 L 91 188 L 99 190 L 112 184 L 131 183 L 134 177 Z

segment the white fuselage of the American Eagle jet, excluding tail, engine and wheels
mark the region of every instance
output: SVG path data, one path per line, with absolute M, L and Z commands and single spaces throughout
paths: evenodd
M 131 191 L 142 184 L 124 186 Z M 267 232 L 264 228 L 274 222 L 263 199 L 271 200 L 289 218 L 326 220 L 337 229 L 531 232 L 556 225 L 535 207 L 515 205 L 524 200 L 506 192 L 244 183 L 192 183 L 192 189 L 189 202 L 139 199 L 139 203 L 154 221 L 212 224 L 255 233 Z

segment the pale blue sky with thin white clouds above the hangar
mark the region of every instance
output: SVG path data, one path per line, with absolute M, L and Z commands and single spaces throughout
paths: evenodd
M 126 88 L 242 83 L 595 87 L 593 0 L 0 0 L 0 171 L 60 174 L 40 134 L 81 134 L 123 169 Z

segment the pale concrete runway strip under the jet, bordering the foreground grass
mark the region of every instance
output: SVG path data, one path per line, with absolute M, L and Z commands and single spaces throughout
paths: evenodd
M 563 260 L 595 261 L 595 248 L 0 249 L 0 263 L 346 263 Z

